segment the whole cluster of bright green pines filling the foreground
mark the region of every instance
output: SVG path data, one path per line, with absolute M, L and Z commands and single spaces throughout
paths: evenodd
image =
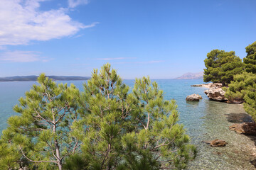
M 110 64 L 79 91 L 38 78 L 8 120 L 1 169 L 184 169 L 196 155 L 174 100 L 149 77 L 134 88 Z

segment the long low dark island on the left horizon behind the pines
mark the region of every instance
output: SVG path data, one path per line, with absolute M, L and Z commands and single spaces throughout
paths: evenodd
M 87 80 L 90 77 L 75 77 L 75 76 L 47 76 L 53 80 Z M 15 77 L 0 77 L 0 81 L 36 81 L 38 76 L 15 76 Z

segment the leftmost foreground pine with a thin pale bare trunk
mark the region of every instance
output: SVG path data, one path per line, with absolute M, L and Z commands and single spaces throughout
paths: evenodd
M 1 167 L 5 169 L 62 169 L 65 157 L 78 149 L 72 124 L 78 120 L 78 89 L 73 84 L 57 84 L 44 74 L 40 86 L 33 85 L 8 120 L 1 136 Z

